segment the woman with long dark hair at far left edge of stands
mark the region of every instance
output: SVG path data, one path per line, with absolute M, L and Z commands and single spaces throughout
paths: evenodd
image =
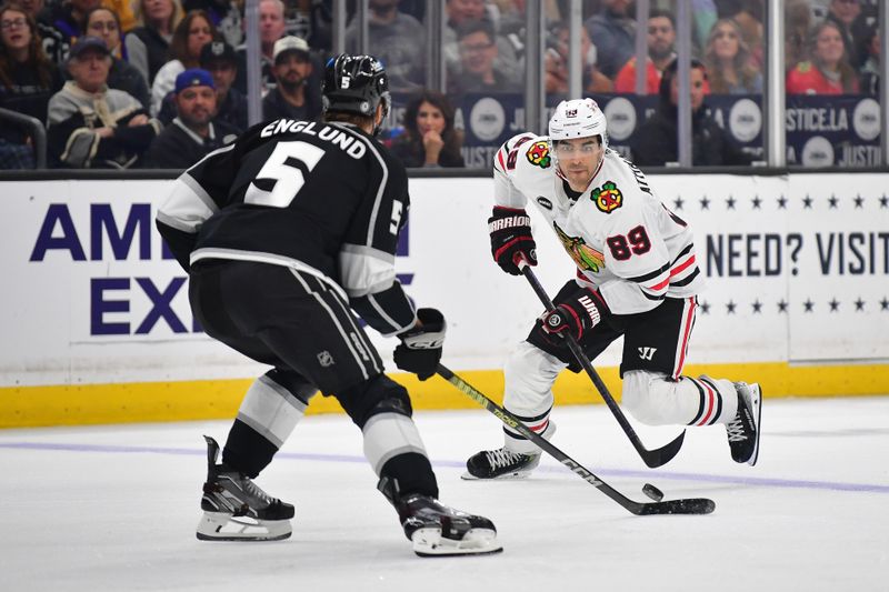
M 62 88 L 59 68 L 40 44 L 37 21 L 16 3 L 0 7 L 0 108 L 47 120 L 47 103 Z M 29 131 L 2 121 L 0 169 L 33 168 Z

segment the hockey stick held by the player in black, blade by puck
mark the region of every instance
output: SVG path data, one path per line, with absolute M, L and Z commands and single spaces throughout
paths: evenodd
M 559 461 L 560 463 L 568 466 L 571 471 L 577 473 L 581 479 L 583 479 L 587 483 L 595 486 L 620 505 L 626 508 L 630 513 L 636 515 L 649 515 L 649 514 L 709 514 L 716 509 L 716 503 L 712 500 L 708 500 L 706 498 L 688 498 L 683 500 L 670 500 L 670 501 L 657 501 L 657 502 L 635 502 L 620 493 L 619 491 L 615 490 L 596 476 L 592 471 L 582 466 L 579 462 L 575 459 L 556 448 L 556 445 L 551 444 L 547 439 L 538 435 L 533 432 L 530 428 L 525 425 L 516 415 L 503 409 L 502 407 L 498 405 L 490 399 L 488 399 L 482 392 L 475 389 L 471 384 L 467 381 L 444 368 L 442 364 L 438 364 L 437 370 L 438 375 L 457 387 L 459 391 L 469 395 L 470 399 L 479 403 L 481 407 L 493 413 L 500 421 L 502 421 L 506 425 L 509 425 L 521 435 L 543 449 L 550 456 Z M 648 495 L 652 491 L 656 494 L 660 494 L 660 491 L 646 483 L 643 491 Z M 660 494 L 662 495 L 662 494 Z

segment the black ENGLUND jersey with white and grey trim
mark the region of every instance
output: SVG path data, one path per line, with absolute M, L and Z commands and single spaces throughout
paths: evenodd
M 410 201 L 404 167 L 346 123 L 276 120 L 186 171 L 158 213 L 177 259 L 311 273 L 383 334 L 416 314 L 394 273 Z

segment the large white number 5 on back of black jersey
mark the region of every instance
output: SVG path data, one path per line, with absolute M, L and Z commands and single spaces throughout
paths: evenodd
M 308 142 L 279 142 L 247 188 L 244 203 L 287 208 L 306 184 L 303 169 L 310 173 L 324 155 L 324 150 Z M 257 187 L 257 181 L 271 180 L 271 190 Z

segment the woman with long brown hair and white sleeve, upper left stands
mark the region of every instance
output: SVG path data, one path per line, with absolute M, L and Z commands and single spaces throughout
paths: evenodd
M 216 27 L 202 10 L 187 13 L 179 22 L 170 41 L 170 61 L 158 70 L 154 82 L 151 83 L 151 114 L 160 113 L 163 98 L 172 92 L 176 86 L 176 77 L 200 64 L 201 49 L 212 41 L 216 34 Z

